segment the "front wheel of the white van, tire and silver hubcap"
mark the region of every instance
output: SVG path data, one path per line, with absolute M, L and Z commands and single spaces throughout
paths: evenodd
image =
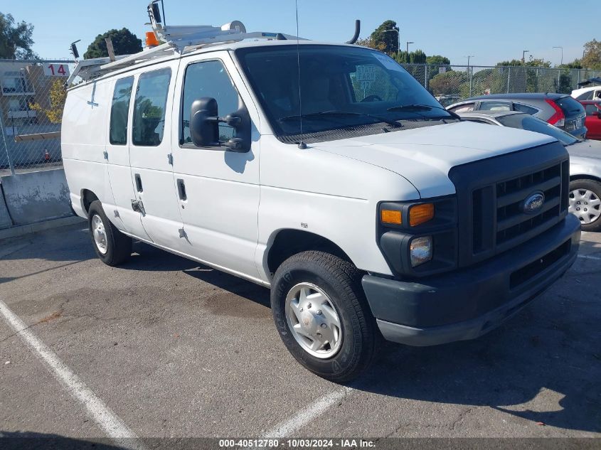
M 298 289 L 306 289 L 306 296 L 295 295 Z M 314 305 L 310 304 L 312 299 L 317 299 Z M 346 382 L 371 363 L 379 332 L 363 294 L 361 272 L 351 262 L 318 251 L 289 257 L 275 272 L 271 306 L 284 345 L 312 373 Z M 332 310 L 340 327 L 330 320 L 334 317 Z M 331 336 L 334 345 L 328 342 L 321 349 L 311 350 L 309 344 L 315 336 L 322 336 L 320 331 L 324 331 L 323 336 Z M 300 333 L 314 334 L 307 338 Z M 321 341 L 316 341 L 317 345 Z

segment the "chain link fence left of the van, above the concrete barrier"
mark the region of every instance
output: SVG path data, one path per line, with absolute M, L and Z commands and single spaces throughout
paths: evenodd
M 60 120 L 70 60 L 0 60 L 0 175 L 63 165 Z

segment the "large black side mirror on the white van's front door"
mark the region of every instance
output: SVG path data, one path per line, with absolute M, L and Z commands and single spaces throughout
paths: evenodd
M 219 141 L 219 123 L 235 129 L 236 137 Z M 218 116 L 217 100 L 202 97 L 190 109 L 190 137 L 198 147 L 225 146 L 229 151 L 244 153 L 250 150 L 250 115 L 244 105 L 225 117 Z

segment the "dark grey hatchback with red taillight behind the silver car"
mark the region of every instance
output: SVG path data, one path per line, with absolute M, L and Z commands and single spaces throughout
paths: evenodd
M 584 138 L 586 113 L 583 105 L 567 94 L 491 94 L 472 97 L 447 107 L 452 112 L 519 111 Z

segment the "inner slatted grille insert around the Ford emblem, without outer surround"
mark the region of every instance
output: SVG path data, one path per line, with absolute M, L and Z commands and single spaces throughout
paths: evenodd
M 509 250 L 519 242 L 555 225 L 568 207 L 568 170 L 569 162 L 563 161 L 474 190 L 474 254 L 489 250 L 491 246 L 495 248 L 496 253 Z M 524 200 L 536 192 L 545 195 L 542 208 L 536 214 L 525 213 Z M 487 210 L 485 203 L 491 200 L 494 201 L 494 208 L 488 209 L 494 213 L 494 233 L 491 235 L 493 242 L 486 242 L 485 227 L 491 225 L 491 220 L 484 217 Z

